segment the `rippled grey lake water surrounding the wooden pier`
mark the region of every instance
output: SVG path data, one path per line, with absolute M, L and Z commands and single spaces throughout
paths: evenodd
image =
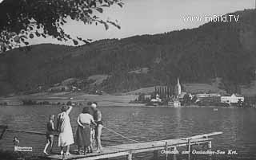
M 212 150 L 237 150 L 237 155 L 214 155 L 212 159 L 256 159 L 256 109 L 238 108 L 166 108 L 166 107 L 99 107 L 103 114 L 105 127 L 125 135 L 130 139 L 146 142 L 159 139 L 177 139 L 192 135 L 202 135 L 222 131 L 214 136 Z M 56 106 L 8 106 L 0 107 L 0 124 L 10 129 L 26 131 L 46 131 L 50 114 L 57 115 Z M 73 131 L 82 107 L 74 107 L 70 113 Z M 75 132 L 74 132 L 75 133 Z M 44 135 L 29 135 L 7 131 L 0 140 L 0 149 L 13 150 L 12 139 L 18 135 L 19 146 L 32 146 L 33 154 L 41 154 L 46 142 Z M 103 146 L 129 143 L 126 139 L 103 129 Z M 54 151 L 58 139 L 55 138 Z M 71 148 L 76 149 L 76 146 Z M 178 148 L 186 150 L 186 148 Z M 201 148 L 197 148 L 201 150 Z M 160 155 L 165 159 L 164 155 Z M 152 159 L 152 153 L 136 154 L 135 159 Z M 200 156 L 194 159 L 204 159 Z M 208 158 L 208 157 L 207 157 Z M 121 158 L 117 158 L 121 159 Z M 178 159 L 186 159 L 178 155 Z

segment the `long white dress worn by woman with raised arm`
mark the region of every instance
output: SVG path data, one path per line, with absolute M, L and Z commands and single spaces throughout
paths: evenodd
M 58 135 L 58 146 L 68 146 L 74 143 L 74 137 L 72 127 L 70 124 L 70 116 L 63 111 L 58 114 L 58 120 L 60 122 L 60 134 Z

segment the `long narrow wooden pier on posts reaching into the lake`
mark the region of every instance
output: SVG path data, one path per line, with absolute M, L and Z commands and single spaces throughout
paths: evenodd
M 86 155 L 70 154 L 69 156 L 53 154 L 47 156 L 50 159 L 66 159 L 66 160 L 96 160 L 104 158 L 115 158 L 119 156 L 126 156 L 127 160 L 132 159 L 133 154 L 142 152 L 154 152 L 154 159 L 158 157 L 158 150 L 176 150 L 179 146 L 187 146 L 188 153 L 191 151 L 193 145 L 207 145 L 208 149 L 211 149 L 211 141 L 209 137 L 212 135 L 221 135 L 222 132 L 213 132 L 204 135 L 195 135 L 184 139 L 166 139 L 152 142 L 137 142 L 128 143 L 117 146 L 105 146 L 102 153 L 92 153 Z M 167 154 L 166 154 L 167 156 Z M 188 154 L 190 156 L 190 154 Z

